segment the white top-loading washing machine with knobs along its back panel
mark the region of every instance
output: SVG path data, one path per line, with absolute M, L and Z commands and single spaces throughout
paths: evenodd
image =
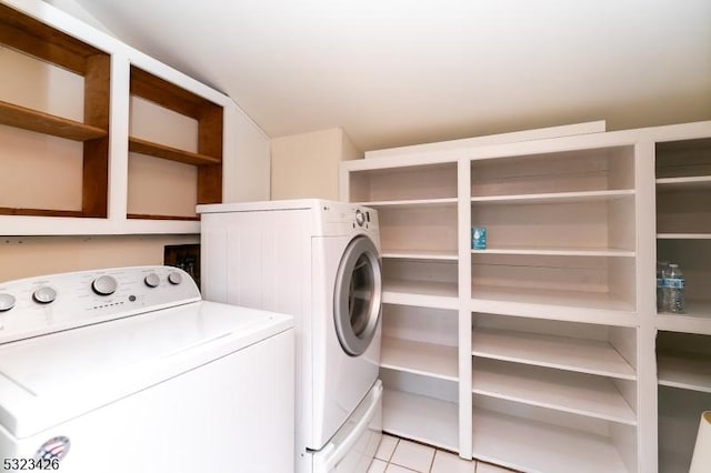
M 293 340 L 174 268 L 0 283 L 3 471 L 291 472 Z

